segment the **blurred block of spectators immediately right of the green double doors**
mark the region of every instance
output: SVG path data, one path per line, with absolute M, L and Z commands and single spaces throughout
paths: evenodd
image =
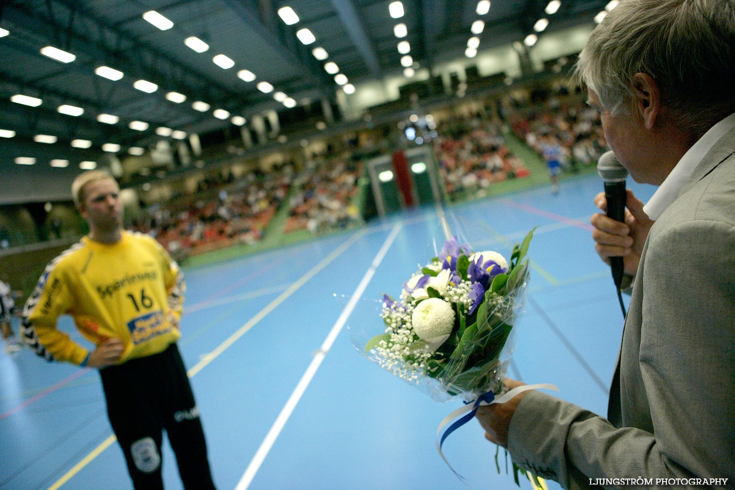
M 505 144 L 501 126 L 472 118 L 453 118 L 438 127 L 434 151 L 451 199 L 481 195 L 493 182 L 529 175 L 523 159 Z

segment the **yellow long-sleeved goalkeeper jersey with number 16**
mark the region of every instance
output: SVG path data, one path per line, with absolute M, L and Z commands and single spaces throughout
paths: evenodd
M 121 362 L 162 352 L 179 339 L 186 286 L 176 262 L 146 234 L 112 245 L 84 237 L 54 259 L 24 308 L 26 343 L 46 359 L 82 364 L 89 350 L 57 329 L 62 314 L 93 344 L 117 337 Z

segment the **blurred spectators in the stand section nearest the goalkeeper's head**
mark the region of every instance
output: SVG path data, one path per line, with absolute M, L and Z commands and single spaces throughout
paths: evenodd
M 167 206 L 151 206 L 134 228 L 151 234 L 175 259 L 257 243 L 290 191 L 293 168 L 257 177 L 254 173 L 232 184 L 207 186 L 208 192 Z

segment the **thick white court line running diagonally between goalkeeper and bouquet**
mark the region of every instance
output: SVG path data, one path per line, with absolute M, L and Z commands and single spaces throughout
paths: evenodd
M 337 323 L 334 323 L 334 326 L 331 328 L 331 331 L 329 331 L 326 339 L 324 339 L 321 347 L 315 353 L 314 359 L 312 359 L 311 364 L 309 364 L 309 367 L 306 368 L 306 372 L 304 372 L 304 375 L 301 376 L 301 380 L 298 381 L 298 384 L 293 390 L 293 393 L 288 398 L 288 401 L 286 402 L 284 407 L 281 409 L 281 413 L 278 415 L 278 417 L 276 417 L 276 422 L 273 422 L 273 425 L 270 427 L 270 430 L 268 430 L 268 434 L 266 434 L 265 439 L 263 439 L 263 442 L 260 443 L 260 447 L 258 447 L 258 450 L 253 456 L 253 459 L 250 461 L 250 464 L 248 464 L 248 468 L 245 469 L 245 473 L 243 473 L 242 478 L 240 478 L 240 481 L 237 482 L 235 490 L 247 490 L 248 486 L 250 486 L 250 484 L 252 483 L 253 478 L 255 478 L 255 474 L 258 472 L 260 466 L 263 464 L 263 461 L 265 461 L 265 457 L 270 452 L 270 448 L 273 447 L 273 444 L 275 444 L 276 439 L 278 439 L 278 436 L 281 433 L 281 430 L 283 430 L 284 425 L 286 425 L 286 422 L 288 421 L 289 417 L 291 417 L 293 410 L 296 408 L 298 400 L 301 400 L 301 396 L 306 391 L 306 387 L 309 386 L 309 383 L 311 383 L 312 378 L 314 378 L 314 375 L 319 369 L 319 366 L 324 360 L 324 357 L 329 352 L 331 345 L 334 344 L 334 340 L 337 339 L 340 331 L 342 331 L 342 328 L 347 322 L 347 319 L 350 317 L 352 310 L 354 310 L 357 302 L 362 297 L 362 293 L 365 292 L 365 288 L 368 287 L 368 284 L 370 284 L 370 280 L 373 278 L 373 275 L 378 269 L 378 266 L 383 261 L 385 254 L 388 252 L 388 248 L 390 248 L 390 245 L 392 245 L 395 237 L 398 236 L 398 231 L 401 231 L 401 226 L 401 223 L 396 223 L 395 226 L 393 226 L 390 235 L 388 235 L 387 239 L 385 239 L 383 246 L 380 248 L 377 255 L 375 256 L 375 259 L 373 259 L 373 262 L 370 264 L 368 272 L 366 272 L 365 275 L 362 277 L 362 281 L 360 281 L 360 284 L 358 284 L 355 292 L 352 293 L 352 296 L 348 301 L 347 306 L 345 306 L 345 309 L 343 309 L 340 317 L 337 318 Z

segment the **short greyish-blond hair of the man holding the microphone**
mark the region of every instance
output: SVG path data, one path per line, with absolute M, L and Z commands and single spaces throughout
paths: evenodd
M 704 132 L 735 111 L 735 0 L 620 0 L 576 65 L 612 115 L 628 112 L 633 76 L 650 75 L 681 129 Z

